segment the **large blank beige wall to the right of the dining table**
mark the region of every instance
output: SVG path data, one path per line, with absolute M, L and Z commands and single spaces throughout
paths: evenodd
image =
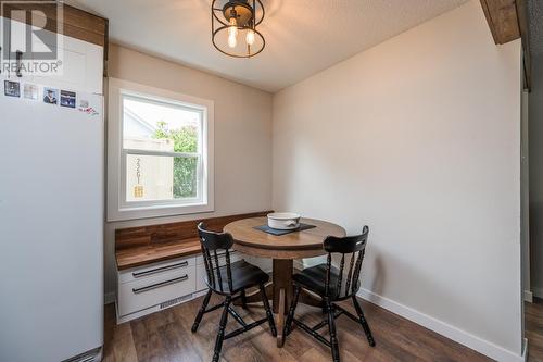
M 478 1 L 274 96 L 274 209 L 370 227 L 363 295 L 521 353 L 520 42 Z

